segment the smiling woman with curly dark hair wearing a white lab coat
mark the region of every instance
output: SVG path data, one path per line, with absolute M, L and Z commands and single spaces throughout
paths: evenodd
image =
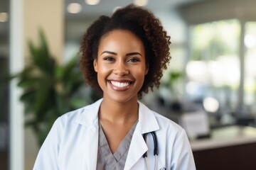
M 103 98 L 55 121 L 34 169 L 196 169 L 184 130 L 138 101 L 159 86 L 169 39 L 151 12 L 132 5 L 92 23 L 80 66 Z

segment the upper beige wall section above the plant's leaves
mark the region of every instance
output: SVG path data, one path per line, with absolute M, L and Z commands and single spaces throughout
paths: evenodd
M 64 1 L 24 1 L 24 41 L 38 42 L 38 30 L 42 29 L 48 40 L 50 52 L 59 62 L 63 56 Z M 25 43 L 26 45 L 27 43 Z M 25 55 L 28 47 L 25 46 Z

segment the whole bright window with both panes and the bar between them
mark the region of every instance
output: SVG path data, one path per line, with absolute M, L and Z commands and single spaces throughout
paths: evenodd
M 256 22 L 244 25 L 238 19 L 213 21 L 191 26 L 189 33 L 188 98 L 202 103 L 206 112 L 214 113 L 220 124 L 254 118 Z

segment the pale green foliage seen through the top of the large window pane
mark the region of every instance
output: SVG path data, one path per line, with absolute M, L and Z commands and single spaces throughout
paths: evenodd
M 238 20 L 214 21 L 191 29 L 191 60 L 215 60 L 220 55 L 237 55 L 240 23 Z

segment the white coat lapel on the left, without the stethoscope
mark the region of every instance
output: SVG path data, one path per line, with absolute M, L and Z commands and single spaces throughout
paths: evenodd
M 85 166 L 82 169 L 96 169 L 97 167 L 97 151 L 98 151 L 98 138 L 99 138 L 99 122 L 98 122 L 98 111 L 102 100 L 97 101 L 87 110 L 84 111 L 78 123 L 85 128 L 85 142 L 84 145 L 84 156 Z

